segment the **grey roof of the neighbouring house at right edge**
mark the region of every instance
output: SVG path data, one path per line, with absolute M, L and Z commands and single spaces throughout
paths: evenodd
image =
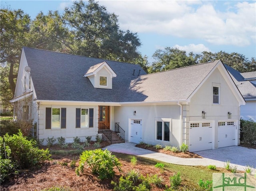
M 239 71 L 233 69 L 232 67 L 224 64 L 228 72 L 230 73 L 230 76 L 232 77 L 234 83 L 238 87 L 240 93 L 244 97 L 244 99 L 248 98 L 256 98 L 256 85 L 251 83 L 250 81 L 245 81 L 243 74 L 245 73 L 240 73 Z M 250 73 L 250 76 L 255 73 L 252 72 Z M 256 77 L 256 76 L 254 76 Z

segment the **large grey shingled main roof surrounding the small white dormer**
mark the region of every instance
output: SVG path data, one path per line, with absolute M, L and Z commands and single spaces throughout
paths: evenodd
M 24 53 L 38 100 L 85 102 L 186 100 L 219 61 L 146 75 L 135 64 L 28 47 L 24 47 Z M 92 66 L 104 61 L 117 75 L 112 79 L 112 89 L 94 88 L 83 77 Z M 137 77 L 138 73 L 141 76 Z

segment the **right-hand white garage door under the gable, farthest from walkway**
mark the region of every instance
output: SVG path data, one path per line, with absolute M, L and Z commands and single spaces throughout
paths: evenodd
M 218 122 L 218 148 L 236 145 L 236 123 L 234 121 Z

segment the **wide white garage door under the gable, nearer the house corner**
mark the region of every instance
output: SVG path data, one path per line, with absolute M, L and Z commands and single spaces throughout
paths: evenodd
M 213 145 L 211 122 L 190 122 L 189 151 L 210 150 Z

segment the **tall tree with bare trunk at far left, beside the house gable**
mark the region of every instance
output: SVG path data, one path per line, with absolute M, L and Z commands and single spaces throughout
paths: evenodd
M 1 63 L 10 64 L 8 81 L 13 95 L 21 48 L 28 44 L 26 37 L 29 32 L 30 17 L 20 9 L 14 11 L 1 9 L 0 20 Z

